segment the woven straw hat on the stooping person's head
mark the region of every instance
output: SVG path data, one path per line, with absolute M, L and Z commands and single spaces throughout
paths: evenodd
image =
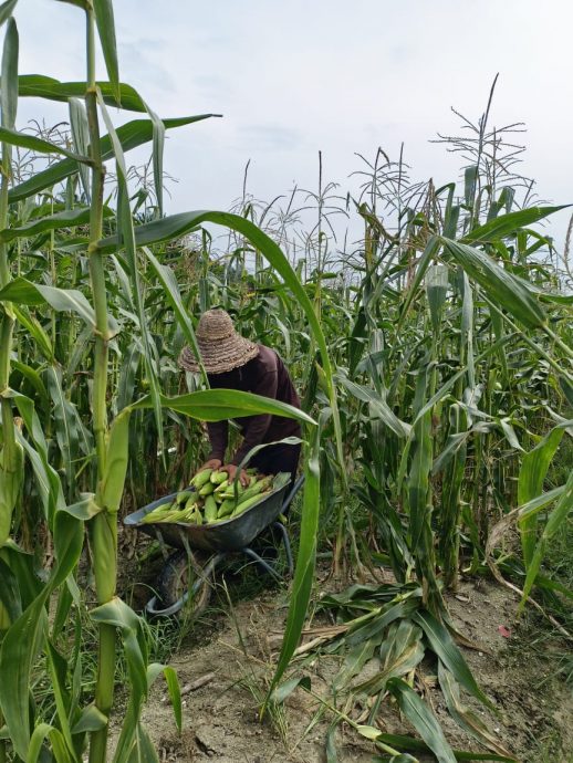
M 197 344 L 208 374 L 225 374 L 243 366 L 259 354 L 259 347 L 235 331 L 231 316 L 225 310 L 208 310 L 199 318 Z M 179 355 L 179 365 L 198 372 L 199 366 L 190 347 Z

